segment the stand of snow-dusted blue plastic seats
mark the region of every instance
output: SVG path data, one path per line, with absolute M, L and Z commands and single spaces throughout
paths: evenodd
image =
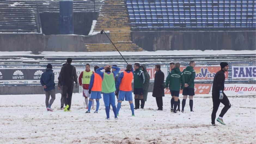
M 126 0 L 132 27 L 256 27 L 255 0 Z

